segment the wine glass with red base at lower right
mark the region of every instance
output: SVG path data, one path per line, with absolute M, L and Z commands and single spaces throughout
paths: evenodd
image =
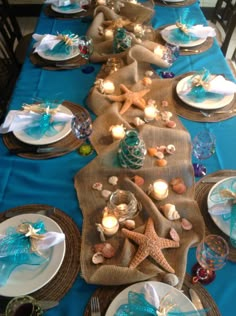
M 219 235 L 208 235 L 196 250 L 197 263 L 192 268 L 192 282 L 209 284 L 215 279 L 215 271 L 220 270 L 226 263 L 229 246 Z

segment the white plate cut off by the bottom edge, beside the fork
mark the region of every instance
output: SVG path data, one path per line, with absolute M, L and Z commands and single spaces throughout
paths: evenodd
M 193 310 L 197 311 L 195 306 L 187 298 L 187 296 L 183 294 L 183 292 L 177 290 L 176 288 L 166 283 L 161 283 L 161 282 L 156 282 L 156 281 L 147 281 L 147 282 L 139 282 L 139 283 L 132 284 L 131 286 L 127 287 L 122 292 L 120 292 L 115 297 L 115 299 L 111 302 L 105 316 L 113 316 L 120 305 L 128 303 L 129 291 L 141 292 L 145 283 L 149 283 L 155 288 L 156 293 L 158 294 L 160 300 L 167 293 L 172 292 L 173 296 L 171 298 L 173 300 L 173 303 L 176 303 L 176 305 L 181 309 L 182 312 L 188 312 L 188 311 L 193 311 Z M 197 315 L 197 312 L 196 312 L 196 315 Z

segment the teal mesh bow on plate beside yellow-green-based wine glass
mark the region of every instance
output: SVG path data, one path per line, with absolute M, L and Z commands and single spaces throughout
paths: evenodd
M 35 117 L 32 125 L 24 129 L 24 132 L 34 139 L 40 139 L 43 136 L 52 137 L 58 133 L 57 129 L 55 128 L 57 125 L 65 125 L 64 121 L 54 122 L 53 115 L 47 113 L 46 111 L 46 109 L 50 110 L 57 108 L 58 104 L 45 102 L 42 103 L 40 107 L 42 108 L 42 110 L 45 110 L 45 112 L 42 114 L 38 114 L 38 116 Z

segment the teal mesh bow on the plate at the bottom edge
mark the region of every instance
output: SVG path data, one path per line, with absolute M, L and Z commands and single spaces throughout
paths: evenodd
M 171 303 L 168 308 L 168 301 L 165 302 L 166 306 L 160 306 L 159 310 L 155 306 L 151 305 L 146 299 L 143 293 L 136 293 L 129 291 L 128 303 L 119 306 L 115 316 L 200 316 L 205 315 L 207 309 L 204 310 L 191 310 L 188 312 L 182 312 L 177 306 Z

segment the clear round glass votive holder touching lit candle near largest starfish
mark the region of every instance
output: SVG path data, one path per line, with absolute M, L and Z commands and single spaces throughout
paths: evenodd
M 130 191 L 116 190 L 108 202 L 109 212 L 113 213 L 119 222 L 134 218 L 138 212 L 138 201 Z

